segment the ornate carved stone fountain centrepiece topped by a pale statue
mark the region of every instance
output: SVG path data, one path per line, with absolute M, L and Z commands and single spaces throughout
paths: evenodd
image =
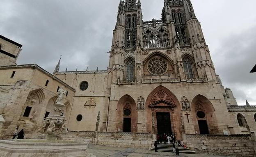
M 55 140 L 61 133 L 68 133 L 65 124 L 66 119 L 63 113 L 63 107 L 65 107 L 65 105 L 62 102 L 65 94 L 66 91 L 64 90 L 64 87 L 60 88 L 56 104 L 53 104 L 54 113 L 46 117 L 38 130 L 40 133 L 47 135 L 46 139 Z

